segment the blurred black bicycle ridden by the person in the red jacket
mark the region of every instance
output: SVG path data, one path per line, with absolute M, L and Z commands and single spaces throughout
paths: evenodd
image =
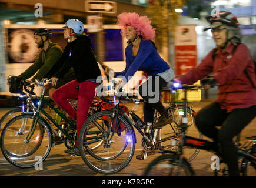
M 174 85 L 171 85 L 172 89 L 175 89 Z M 185 98 L 184 98 L 184 109 L 187 103 L 187 91 L 194 89 L 203 89 L 202 86 L 196 85 L 182 85 L 179 88 L 184 89 Z M 177 152 L 172 151 L 162 151 L 163 155 L 152 160 L 145 169 L 144 176 L 193 176 L 194 170 L 191 167 L 191 164 L 185 158 L 183 153 L 184 146 L 198 148 L 202 150 L 207 150 L 214 152 L 217 156 L 221 156 L 218 151 L 218 146 L 214 142 L 207 140 L 199 140 L 195 137 L 187 136 L 186 130 L 187 125 L 187 116 L 184 115 L 182 122 L 179 125 L 181 130 L 181 135 L 179 136 L 179 145 Z M 240 172 L 242 176 L 247 176 L 248 167 L 251 165 L 256 169 L 256 136 L 248 137 L 244 145 L 240 146 L 240 135 L 237 136 L 236 146 L 238 149 L 238 156 L 240 161 Z M 221 157 L 220 164 L 224 163 Z M 220 166 L 218 166 L 220 167 Z M 227 167 L 224 166 L 223 169 L 218 169 L 215 167 L 214 175 L 217 176 L 218 172 L 222 172 L 224 175 L 228 174 Z

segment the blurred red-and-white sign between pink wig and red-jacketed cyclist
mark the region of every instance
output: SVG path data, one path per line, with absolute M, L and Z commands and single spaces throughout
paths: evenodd
M 177 25 L 175 29 L 176 75 L 182 75 L 197 66 L 196 25 Z

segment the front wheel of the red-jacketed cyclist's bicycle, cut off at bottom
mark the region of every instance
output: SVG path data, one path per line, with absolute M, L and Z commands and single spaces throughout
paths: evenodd
M 177 175 L 175 172 L 172 173 L 174 168 L 178 167 L 175 162 L 176 155 L 165 154 L 158 156 L 151 163 L 148 164 L 142 176 L 172 176 Z M 183 158 L 181 169 L 179 169 L 178 176 L 194 176 L 194 171 L 188 161 Z

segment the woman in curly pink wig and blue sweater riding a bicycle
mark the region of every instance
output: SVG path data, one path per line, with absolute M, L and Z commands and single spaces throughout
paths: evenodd
M 147 73 L 148 79 L 139 87 L 139 94 L 144 102 L 144 122 L 153 122 L 154 110 L 156 109 L 161 117 L 154 127 L 161 127 L 171 122 L 171 117 L 159 101 L 160 90 L 174 78 L 174 71 L 167 62 L 162 59 L 154 42 L 155 29 L 147 16 L 139 16 L 136 12 L 123 12 L 118 15 L 118 25 L 121 27 L 122 35 L 128 39 L 128 46 L 125 48 L 126 67 L 122 72 L 115 72 L 115 77 L 122 76 L 124 82 L 138 71 Z M 152 96 L 151 91 L 154 91 Z M 152 99 L 157 98 L 157 100 Z M 137 159 L 143 159 L 143 153 Z M 148 155 L 150 155 L 148 153 Z

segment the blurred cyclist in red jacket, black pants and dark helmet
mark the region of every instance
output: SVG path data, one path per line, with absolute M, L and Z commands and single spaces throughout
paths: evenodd
M 177 81 L 192 84 L 213 73 L 218 99 L 197 113 L 195 124 L 200 132 L 218 143 L 230 176 L 238 176 L 238 153 L 232 138 L 256 116 L 254 62 L 247 46 L 240 42 L 239 24 L 233 14 L 221 11 L 207 20 L 211 25 L 204 31 L 211 29 L 217 48 L 197 67 L 178 76 Z

